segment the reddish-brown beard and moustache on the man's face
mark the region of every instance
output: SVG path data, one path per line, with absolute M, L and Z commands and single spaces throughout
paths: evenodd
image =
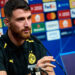
M 11 27 L 10 27 L 10 30 L 11 30 L 11 33 L 13 35 L 14 38 L 18 38 L 20 40 L 26 40 L 30 37 L 30 34 L 31 34 L 31 28 L 29 27 L 26 27 L 25 29 L 21 30 L 21 31 L 18 31 L 12 24 L 11 24 Z M 24 34 L 24 31 L 25 30 L 29 30 L 28 33 L 25 33 Z

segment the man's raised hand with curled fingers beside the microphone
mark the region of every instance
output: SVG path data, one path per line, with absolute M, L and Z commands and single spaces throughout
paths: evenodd
M 52 61 L 55 61 L 53 56 L 45 56 L 38 60 L 36 67 L 42 68 L 48 73 L 48 75 L 55 75 L 53 68 L 55 68 L 56 66 L 51 64 Z

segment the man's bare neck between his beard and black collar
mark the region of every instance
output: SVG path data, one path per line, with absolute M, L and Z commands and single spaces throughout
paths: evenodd
M 22 45 L 25 41 L 25 40 L 20 39 L 16 36 L 13 36 L 13 34 L 10 31 L 8 31 L 8 36 L 9 36 L 11 42 L 14 43 L 16 46 Z

